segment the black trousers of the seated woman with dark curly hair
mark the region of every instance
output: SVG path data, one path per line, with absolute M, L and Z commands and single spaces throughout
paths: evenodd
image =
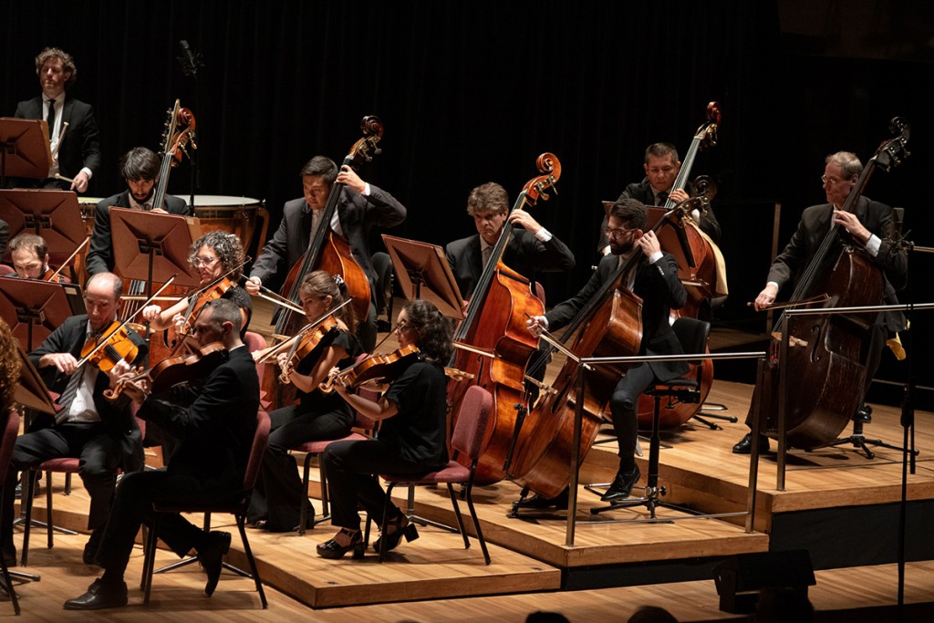
M 383 520 L 386 491 L 376 474 L 423 474 L 432 468 L 404 460 L 397 447 L 378 439 L 332 444 L 323 460 L 331 483 L 331 523 L 350 530 L 360 528 L 358 504 L 375 522 Z M 402 516 L 395 506 L 389 513 L 390 521 Z

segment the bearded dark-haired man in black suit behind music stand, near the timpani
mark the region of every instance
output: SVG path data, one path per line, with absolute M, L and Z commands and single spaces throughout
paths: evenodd
M 120 176 L 126 180 L 127 190 L 103 199 L 94 207 L 94 230 L 87 260 L 89 274 L 96 275 L 114 269 L 114 248 L 110 236 L 111 207 L 191 215 L 184 199 L 169 194 L 165 195 L 163 205 L 152 205 L 159 181 L 159 169 L 159 157 L 145 147 L 130 149 L 120 158 Z

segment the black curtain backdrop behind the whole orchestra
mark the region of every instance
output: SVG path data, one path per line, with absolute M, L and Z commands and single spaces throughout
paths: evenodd
M 866 3 L 887 16 L 888 2 Z M 562 164 L 558 195 L 532 213 L 577 257 L 572 273 L 545 278 L 554 304 L 596 262 L 601 200 L 643 177 L 649 143 L 684 154 L 717 100 L 720 142 L 693 172 L 720 186 L 730 298 L 719 318 L 761 330 L 745 303 L 768 272 L 772 206 L 783 206 L 784 245 L 800 210 L 824 201 L 824 156 L 850 149 L 865 162 L 895 115 L 913 122 L 914 155 L 877 173 L 866 194 L 905 207 L 913 239 L 934 243 L 920 201 L 934 162 L 922 99 L 934 65 L 801 46 L 782 30 L 800 4 L 11 1 L 0 7 L 0 113 L 12 116 L 39 92 L 35 54 L 60 47 L 78 64 L 70 92 L 95 107 L 101 126 L 104 169 L 89 194 L 124 187 L 120 154 L 158 149 L 166 109 L 180 98 L 197 120 L 196 191 L 264 199 L 273 228 L 282 204 L 301 194 L 303 163 L 316 154 L 340 162 L 361 118 L 375 114 L 383 153 L 361 177 L 408 207 L 390 234 L 439 245 L 474 233 L 465 212 L 474 186 L 497 181 L 515 198 L 538 175 L 535 158 L 551 151 Z M 828 22 L 846 7 L 816 4 L 830 7 Z M 897 37 L 913 19 L 906 13 L 878 21 Z M 203 55 L 196 78 L 177 61 L 181 39 Z M 191 190 L 187 161 L 169 190 Z M 916 274 L 932 264 L 917 262 Z M 930 299 L 927 283 L 918 300 Z M 929 323 L 918 319 L 916 342 L 934 343 Z

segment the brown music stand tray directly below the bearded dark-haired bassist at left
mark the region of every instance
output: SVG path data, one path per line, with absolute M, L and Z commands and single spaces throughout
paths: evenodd
M 153 281 L 164 283 L 173 275 L 175 286 L 201 284 L 201 276 L 188 263 L 191 244 L 201 237 L 198 219 L 111 207 L 110 232 L 120 276 L 146 281 L 149 289 Z

